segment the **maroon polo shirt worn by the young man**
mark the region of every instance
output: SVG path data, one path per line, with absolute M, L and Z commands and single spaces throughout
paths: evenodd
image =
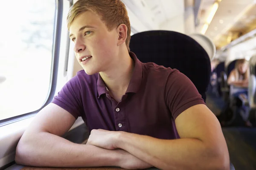
M 191 80 L 177 69 L 142 63 L 130 52 L 134 72 L 121 101 L 108 93 L 98 74 L 84 70 L 70 79 L 52 103 L 76 119 L 81 116 L 89 131 L 125 131 L 159 139 L 179 138 L 175 119 L 187 108 L 205 104 Z M 118 83 L 118 82 L 117 82 Z

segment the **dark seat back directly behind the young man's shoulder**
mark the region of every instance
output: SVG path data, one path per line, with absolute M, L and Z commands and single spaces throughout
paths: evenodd
M 189 77 L 206 100 L 210 59 L 194 39 L 174 31 L 145 31 L 131 36 L 130 49 L 141 62 L 178 69 Z

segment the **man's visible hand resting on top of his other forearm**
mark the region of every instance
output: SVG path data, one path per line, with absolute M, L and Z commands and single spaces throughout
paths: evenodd
M 93 129 L 90 133 L 87 144 L 94 145 L 96 147 L 102 147 L 108 150 L 117 149 L 116 141 L 120 132 L 108 131 L 103 129 Z

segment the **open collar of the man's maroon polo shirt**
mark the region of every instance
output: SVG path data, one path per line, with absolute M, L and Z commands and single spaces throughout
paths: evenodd
M 128 88 L 125 93 L 137 93 L 140 88 L 140 84 L 142 81 L 142 65 L 143 63 L 137 59 L 137 56 L 133 52 L 129 52 L 130 57 L 134 60 L 134 71 L 129 82 Z M 105 82 L 103 81 L 102 77 L 98 73 L 98 80 L 97 80 L 97 89 L 98 89 L 98 98 L 102 94 L 107 93 L 107 87 Z

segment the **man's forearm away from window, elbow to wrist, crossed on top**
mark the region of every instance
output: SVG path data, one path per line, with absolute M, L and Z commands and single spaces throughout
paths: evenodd
M 226 170 L 229 161 L 223 156 L 225 150 L 211 150 L 199 139 L 162 140 L 120 133 L 116 143 L 118 148 L 163 170 Z

